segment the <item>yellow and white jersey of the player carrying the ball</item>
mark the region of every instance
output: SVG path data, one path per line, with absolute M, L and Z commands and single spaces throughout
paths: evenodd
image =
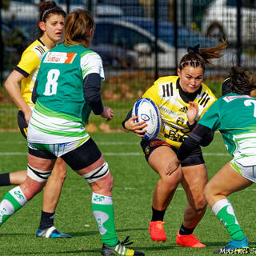
M 154 101 L 160 110 L 162 125 L 158 138 L 177 148 L 190 135 L 186 117 L 189 102 L 182 99 L 180 90 L 178 76 L 168 76 L 155 81 L 154 85 L 146 90 L 146 93 L 142 96 Z M 216 101 L 216 97 L 202 83 L 201 88 L 194 95 L 193 101 L 198 105 L 198 116 L 196 118 L 196 121 L 198 121 L 202 114 Z

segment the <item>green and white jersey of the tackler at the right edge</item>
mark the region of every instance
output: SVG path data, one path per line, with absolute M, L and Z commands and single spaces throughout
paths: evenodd
M 242 166 L 256 166 L 256 98 L 227 94 L 198 123 L 219 130 L 227 150 Z

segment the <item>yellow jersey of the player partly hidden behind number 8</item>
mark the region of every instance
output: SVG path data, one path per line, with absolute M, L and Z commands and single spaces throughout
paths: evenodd
M 35 40 L 24 50 L 22 58 L 15 67 L 15 70 L 25 76 L 21 82 L 21 92 L 22 97 L 29 106 L 34 106 L 31 101 L 34 82 L 38 75 L 42 57 L 48 50 L 40 39 Z

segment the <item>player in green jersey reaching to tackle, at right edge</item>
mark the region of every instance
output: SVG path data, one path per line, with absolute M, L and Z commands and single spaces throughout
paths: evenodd
M 214 214 L 226 226 L 231 241 L 214 254 L 245 254 L 249 243 L 227 196 L 256 182 L 256 80 L 249 70 L 233 67 L 230 71 L 230 94 L 219 98 L 202 116 L 190 137 L 182 143 L 167 166 L 166 174 L 177 170 L 182 159 L 203 142 L 210 131 L 219 130 L 233 159 L 226 163 L 204 191 Z M 209 144 L 210 141 L 206 142 Z M 232 182 L 230 182 L 232 181 Z

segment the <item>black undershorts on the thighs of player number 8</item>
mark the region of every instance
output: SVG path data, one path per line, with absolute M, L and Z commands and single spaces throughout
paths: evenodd
M 29 148 L 29 153 L 38 158 L 56 159 L 57 157 L 47 150 L 33 150 Z M 80 170 L 90 166 L 102 156 L 102 152 L 92 138 L 89 138 L 85 143 L 77 149 L 63 154 L 61 158 L 70 166 L 72 170 Z

